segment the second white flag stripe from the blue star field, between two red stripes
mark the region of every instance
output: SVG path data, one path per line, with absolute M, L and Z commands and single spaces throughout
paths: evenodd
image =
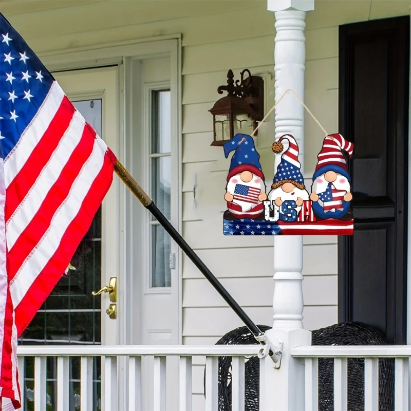
M 44 200 L 53 184 L 59 179 L 63 167 L 67 164 L 68 155 L 73 152 L 82 137 L 84 124 L 84 119 L 77 111 L 66 133 L 60 140 L 59 146 L 41 171 L 40 176 L 36 179 L 15 213 L 6 222 L 7 247 L 9 250 L 12 249 L 18 236 L 23 233 L 40 207 L 42 205 L 44 207 Z M 26 203 L 28 207 L 25 207 Z

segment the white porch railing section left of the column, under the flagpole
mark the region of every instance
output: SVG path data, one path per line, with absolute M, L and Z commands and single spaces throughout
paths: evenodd
M 245 361 L 246 357 L 257 357 L 259 345 L 231 346 L 19 346 L 17 348 L 20 386 L 24 384 L 24 358 L 34 357 L 34 410 L 47 409 L 47 357 L 57 358 L 57 411 L 69 409 L 69 359 L 80 357 L 80 409 L 91 411 L 92 406 L 92 362 L 101 358 L 102 409 L 105 411 L 147 411 L 142 398 L 150 389 L 153 411 L 171 411 L 166 404 L 167 357 L 179 357 L 178 411 L 192 411 L 192 359 L 206 357 L 206 410 L 218 409 L 218 357 L 232 357 L 232 402 L 233 410 L 244 410 Z M 153 381 L 142 378 L 142 357 L 154 358 Z M 122 362 L 125 360 L 125 363 Z M 121 364 L 120 364 L 121 363 Z M 264 367 L 265 361 L 260 360 Z M 124 368 L 123 368 L 124 367 Z M 118 396 L 126 392 L 118 386 L 118 371 L 125 369 L 125 385 L 128 387 L 126 408 L 119 407 Z M 119 371 L 120 372 L 120 371 Z M 149 388 L 150 386 L 150 388 Z M 167 406 L 168 405 L 168 406 Z M 25 406 L 21 409 L 26 409 Z M 199 410 L 194 410 L 199 411 Z

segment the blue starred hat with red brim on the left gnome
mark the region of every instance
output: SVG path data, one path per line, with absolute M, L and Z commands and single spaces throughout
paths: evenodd
M 231 158 L 227 181 L 243 171 L 249 171 L 264 180 L 264 174 L 263 171 L 261 171 L 259 162 L 260 156 L 255 150 L 254 140 L 251 136 L 247 134 L 236 134 L 234 138 L 227 141 L 223 147 L 226 158 L 230 152 L 235 150 Z

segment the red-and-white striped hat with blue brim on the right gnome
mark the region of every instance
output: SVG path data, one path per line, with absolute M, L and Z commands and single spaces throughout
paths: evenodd
M 334 171 L 350 181 L 347 163 L 342 150 L 347 152 L 351 158 L 354 144 L 345 140 L 341 134 L 330 134 L 326 136 L 321 151 L 317 156 L 318 162 L 312 179 L 315 180 L 317 177 L 327 173 L 327 171 Z

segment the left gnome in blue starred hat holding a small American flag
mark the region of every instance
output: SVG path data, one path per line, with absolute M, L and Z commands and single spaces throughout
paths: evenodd
M 264 220 L 263 201 L 267 200 L 266 184 L 253 138 L 246 134 L 236 134 L 223 147 L 226 158 L 235 150 L 231 158 L 227 192 L 224 196 L 228 210 L 223 218 Z

